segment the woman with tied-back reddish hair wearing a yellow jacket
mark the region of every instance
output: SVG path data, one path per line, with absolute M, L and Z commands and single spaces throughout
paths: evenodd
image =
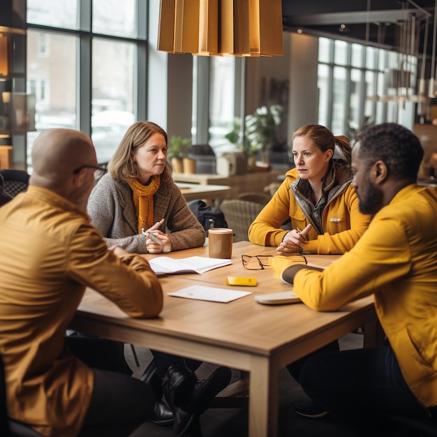
M 345 253 L 370 223 L 358 210 L 350 186 L 351 147 L 325 126 L 310 124 L 292 136 L 295 168 L 249 228 L 249 240 L 278 246 L 281 255 L 299 251 Z M 291 220 L 292 230 L 281 225 Z

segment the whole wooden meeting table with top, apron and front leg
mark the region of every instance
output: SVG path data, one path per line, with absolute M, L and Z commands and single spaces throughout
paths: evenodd
M 272 270 L 249 271 L 241 255 L 275 254 L 272 247 L 234 244 L 232 265 L 205 274 L 164 276 L 164 292 L 188 285 L 227 288 L 226 276 L 256 276 L 258 286 L 238 288 L 253 295 L 278 292 L 289 286 L 274 279 Z M 207 256 L 207 247 L 179 251 L 174 258 Z M 145 255 L 151 258 L 154 255 Z M 307 255 L 309 262 L 329 265 L 335 255 Z M 158 318 L 129 318 L 117 306 L 93 290 L 87 290 L 72 328 L 87 334 L 138 344 L 154 350 L 242 369 L 250 373 L 249 435 L 276 436 L 279 370 L 343 334 L 365 326 L 366 343 L 376 339 L 373 299 L 367 297 L 329 313 L 312 311 L 304 304 L 264 306 L 242 297 L 228 304 L 170 297 Z M 370 335 L 372 336 L 369 339 Z

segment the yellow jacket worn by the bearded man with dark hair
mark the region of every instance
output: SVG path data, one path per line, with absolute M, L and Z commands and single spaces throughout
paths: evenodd
M 407 186 L 374 216 L 353 249 L 324 272 L 297 272 L 293 285 L 316 311 L 374 293 L 403 378 L 426 407 L 437 406 L 436 223 L 437 200 L 429 188 Z

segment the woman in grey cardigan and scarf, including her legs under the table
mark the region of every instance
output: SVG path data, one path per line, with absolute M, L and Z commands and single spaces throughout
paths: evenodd
M 186 205 L 172 179 L 167 161 L 167 133 L 151 121 L 128 128 L 98 180 L 88 202 L 88 214 L 105 237 L 107 246 L 128 252 L 168 253 L 202 246 L 205 230 Z M 231 371 L 218 367 L 206 380 L 194 371 L 201 362 L 152 350 L 141 380 L 149 383 L 157 399 L 156 424 L 174 423 L 175 434 L 200 436 L 199 416 L 215 395 L 228 385 Z

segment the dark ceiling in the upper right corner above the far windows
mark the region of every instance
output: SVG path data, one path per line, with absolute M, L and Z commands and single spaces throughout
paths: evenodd
M 436 0 L 282 0 L 283 29 L 390 50 L 406 47 L 405 36 L 414 34 L 415 50 L 421 55 L 428 17 L 426 48 L 431 58 L 435 4 Z

